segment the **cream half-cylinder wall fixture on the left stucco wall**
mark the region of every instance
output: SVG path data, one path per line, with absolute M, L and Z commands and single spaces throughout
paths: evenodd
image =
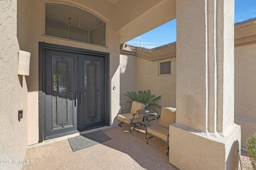
M 19 50 L 18 74 L 29 76 L 30 53 Z

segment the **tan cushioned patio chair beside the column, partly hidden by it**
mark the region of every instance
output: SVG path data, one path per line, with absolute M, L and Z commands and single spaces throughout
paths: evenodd
M 157 125 L 149 126 L 150 121 L 156 120 L 159 118 L 159 122 Z M 162 107 L 161 114 L 154 119 L 148 120 L 146 123 L 146 139 L 148 137 L 146 143 L 148 144 L 148 140 L 152 137 L 159 139 L 167 143 L 168 147 L 166 149 L 166 155 L 168 155 L 169 151 L 169 125 L 172 123 L 176 123 L 176 108 L 173 107 Z

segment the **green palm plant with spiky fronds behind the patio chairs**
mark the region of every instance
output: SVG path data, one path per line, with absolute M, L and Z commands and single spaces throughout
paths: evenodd
M 147 109 L 155 109 L 155 107 L 161 108 L 160 104 L 156 103 L 158 102 L 162 96 L 156 97 L 156 95 L 151 94 L 151 91 L 144 90 L 139 90 L 139 92 L 134 92 L 134 91 L 128 91 L 124 94 L 124 96 L 127 96 L 129 99 L 126 101 L 127 103 L 132 103 L 132 101 L 136 102 L 142 102 L 148 104 Z

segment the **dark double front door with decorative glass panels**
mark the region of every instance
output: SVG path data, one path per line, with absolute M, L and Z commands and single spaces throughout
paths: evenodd
M 106 125 L 105 59 L 45 50 L 44 139 Z

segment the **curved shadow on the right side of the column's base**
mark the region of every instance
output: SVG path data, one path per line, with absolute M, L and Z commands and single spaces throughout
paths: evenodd
M 238 170 L 238 168 L 239 168 L 238 150 L 239 150 L 239 142 L 234 141 L 234 143 L 230 149 L 227 162 L 226 162 L 227 170 Z M 240 152 L 240 150 L 239 150 L 239 152 Z

